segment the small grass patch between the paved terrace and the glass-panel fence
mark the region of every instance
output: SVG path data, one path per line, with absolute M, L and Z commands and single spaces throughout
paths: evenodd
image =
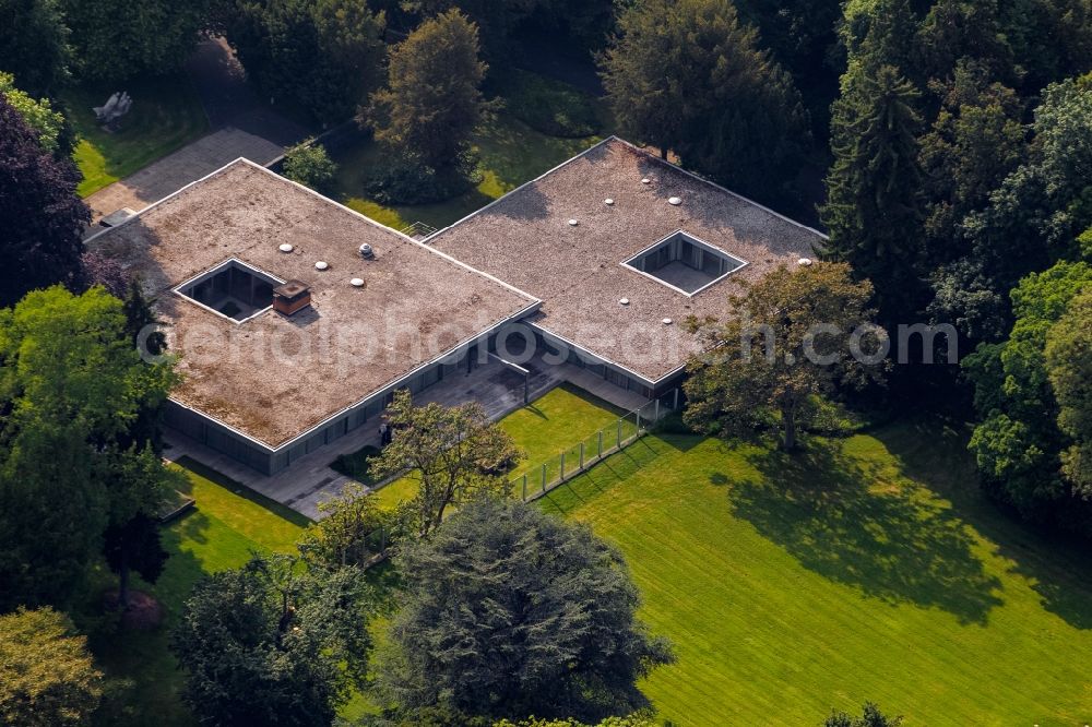
M 609 402 L 568 384 L 553 389 L 527 406 L 512 412 L 498 422 L 525 455 L 512 470 L 512 478 L 533 467 L 534 472 L 529 479 L 536 481 L 535 477 L 541 477 L 538 465 L 549 460 L 547 470 L 551 479 L 557 475 L 557 457 L 562 451 L 566 451 L 567 462 L 575 463 L 580 442 L 587 440 L 586 446 L 592 448 L 593 434 L 612 425 L 622 414 L 622 409 Z M 632 427 L 624 428 L 624 438 L 631 431 Z M 604 449 L 613 443 L 607 439 Z M 589 449 L 587 452 L 590 454 L 592 450 Z M 375 497 L 379 498 L 381 506 L 392 509 L 413 497 L 416 487 L 412 477 L 402 477 L 377 490 Z

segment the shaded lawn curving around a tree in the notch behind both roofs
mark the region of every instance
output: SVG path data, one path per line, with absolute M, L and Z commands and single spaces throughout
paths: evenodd
M 442 228 L 598 141 L 598 136 L 547 136 L 514 117 L 501 114 L 474 140 L 474 148 L 482 160 L 483 170 L 482 182 L 476 188 L 435 204 L 384 206 L 364 195 L 361 179 L 380 164 L 380 154 L 375 143 L 361 138 L 355 145 L 332 154 L 337 163 L 333 196 L 388 227 L 400 229 L 419 221 Z

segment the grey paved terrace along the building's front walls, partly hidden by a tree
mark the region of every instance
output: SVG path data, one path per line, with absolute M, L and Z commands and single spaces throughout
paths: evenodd
M 618 389 L 585 369 L 569 364 L 547 366 L 535 360 L 530 362 L 527 368 L 531 370 L 529 386 L 531 401 L 568 382 L 627 412 L 648 403 L 646 398 L 636 392 Z M 475 368 L 468 374 L 449 377 L 416 396 L 419 404 L 437 402 L 444 406 L 454 406 L 472 398 L 480 402 L 490 419 L 500 419 L 523 406 L 523 376 L 498 361 L 490 361 Z M 345 437 L 300 457 L 288 469 L 272 477 L 262 475 L 173 429 L 167 429 L 165 432 L 167 443 L 170 445 L 165 456 L 168 460 L 177 460 L 183 455 L 192 457 L 313 519 L 318 517 L 316 506 L 318 502 L 325 497 L 336 494 L 345 482 L 349 481 L 348 477 L 331 469 L 330 464 L 341 454 L 356 452 L 369 444 L 378 446 L 378 420 L 375 425 L 369 421 Z

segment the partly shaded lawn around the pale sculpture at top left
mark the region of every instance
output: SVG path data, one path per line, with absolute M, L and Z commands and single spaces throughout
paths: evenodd
M 92 107 L 102 106 L 115 91 L 128 91 L 133 105 L 116 133 L 104 131 Z M 141 79 L 114 86 L 81 86 L 64 94 L 72 123 L 83 141 L 75 162 L 83 172 L 80 196 L 98 191 L 122 177 L 203 135 L 209 130 L 201 99 L 189 79 L 174 74 Z

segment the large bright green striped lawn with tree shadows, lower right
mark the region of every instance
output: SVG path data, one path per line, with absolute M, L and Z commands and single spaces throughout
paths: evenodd
M 645 437 L 541 501 L 625 552 L 677 664 L 675 725 L 1082 725 L 1092 562 L 981 496 L 959 432 L 901 424 L 788 457 Z

